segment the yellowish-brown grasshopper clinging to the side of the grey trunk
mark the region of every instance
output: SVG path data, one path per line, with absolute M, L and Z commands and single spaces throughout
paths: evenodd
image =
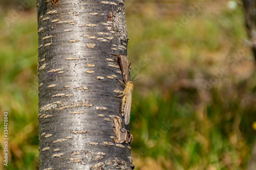
M 117 78 L 116 78 L 117 79 Z M 133 98 L 133 82 L 127 82 L 126 84 L 117 79 L 124 85 L 124 90 L 121 95 L 116 95 L 118 98 L 122 98 L 122 116 L 124 115 L 124 123 L 128 125 L 130 123 L 131 116 L 131 107 L 132 107 L 132 98 Z

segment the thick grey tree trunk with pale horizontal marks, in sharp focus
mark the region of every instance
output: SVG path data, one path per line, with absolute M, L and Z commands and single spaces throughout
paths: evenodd
M 123 0 L 38 0 L 37 18 L 39 169 L 134 169 L 110 54 L 127 54 Z

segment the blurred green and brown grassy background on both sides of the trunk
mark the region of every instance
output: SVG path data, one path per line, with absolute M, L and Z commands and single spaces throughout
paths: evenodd
M 254 144 L 255 62 L 242 1 L 126 0 L 137 169 L 246 169 Z M 0 126 L 8 169 L 38 168 L 37 16 L 0 3 Z M 3 168 L 0 133 L 0 169 Z

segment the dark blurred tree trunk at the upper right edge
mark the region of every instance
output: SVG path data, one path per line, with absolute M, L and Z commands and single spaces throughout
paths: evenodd
M 251 46 L 256 60 L 256 4 L 255 0 L 243 0 L 245 7 L 246 28 L 251 39 Z

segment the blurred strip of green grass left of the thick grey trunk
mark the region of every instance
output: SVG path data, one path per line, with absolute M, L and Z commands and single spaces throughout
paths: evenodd
M 14 8 L 15 9 L 15 8 Z M 1 22 L 11 13 L 1 13 Z M 38 83 L 37 27 L 35 10 L 20 13 L 8 27 L 1 25 L 0 111 L 8 111 L 8 169 L 37 169 L 38 166 Z M 3 131 L 3 114 L 0 126 Z M 1 133 L 1 141 L 4 136 Z M 0 144 L 1 155 L 3 142 Z M 0 158 L 3 162 L 3 157 Z M 0 169 L 3 164 L 0 163 Z

